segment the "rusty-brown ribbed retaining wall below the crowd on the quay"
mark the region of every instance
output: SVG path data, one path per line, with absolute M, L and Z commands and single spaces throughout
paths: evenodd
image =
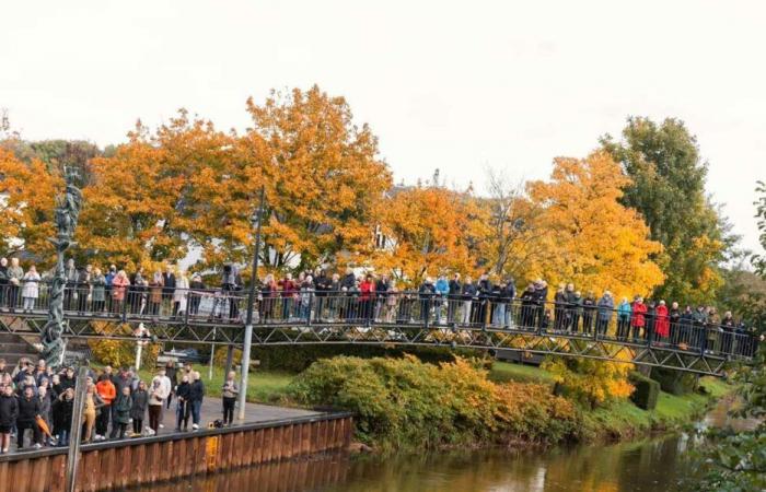
M 97 491 L 214 473 L 345 449 L 348 413 L 83 445 L 78 490 Z M 66 448 L 0 456 L 0 492 L 63 491 Z

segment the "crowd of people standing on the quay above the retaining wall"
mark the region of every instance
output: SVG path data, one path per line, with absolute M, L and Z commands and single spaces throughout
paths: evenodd
M 72 367 L 54 372 L 44 360 L 22 358 L 14 367 L 0 359 L 0 453 L 16 449 L 68 446 L 74 410 L 77 376 Z M 239 385 L 230 373 L 221 388 L 223 425 L 233 421 Z M 175 399 L 176 432 L 200 429 L 205 385 L 190 364 L 173 362 L 146 382 L 128 367 L 89 371 L 82 413 L 82 442 L 154 435 L 165 426 L 165 412 Z

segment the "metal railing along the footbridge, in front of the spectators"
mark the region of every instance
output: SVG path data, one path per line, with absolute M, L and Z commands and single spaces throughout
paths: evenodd
M 32 284 L 37 289 L 27 289 Z M 44 315 L 49 306 L 48 283 L 0 285 L 0 312 Z M 103 293 L 103 295 L 102 295 Z M 35 294 L 34 297 L 31 295 Z M 63 308 L 70 318 L 123 323 L 244 326 L 246 293 L 225 289 L 165 289 L 128 286 L 116 292 L 88 284 L 67 285 Z M 405 326 L 434 330 L 509 330 L 532 336 L 566 335 L 682 352 L 750 359 L 759 339 L 739 326 L 695 320 L 690 316 L 663 319 L 651 313 L 639 317 L 617 309 L 485 296 L 449 296 L 418 292 L 362 293 L 356 291 L 259 292 L 256 326 L 292 328 L 353 325 Z M 658 330 L 666 323 L 668 330 Z

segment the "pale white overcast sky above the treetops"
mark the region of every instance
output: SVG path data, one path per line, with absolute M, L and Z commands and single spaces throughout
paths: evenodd
M 757 1 L 7 1 L 0 107 L 30 139 L 119 142 L 186 107 L 318 83 L 380 137 L 395 179 L 548 175 L 628 115 L 682 118 L 708 190 L 757 247 L 766 179 L 766 9 Z M 683 220 L 680 218 L 680 220 Z

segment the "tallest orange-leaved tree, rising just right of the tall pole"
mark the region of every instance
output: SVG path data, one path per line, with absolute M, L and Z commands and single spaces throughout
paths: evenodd
M 266 186 L 264 262 L 283 268 L 365 258 L 391 186 L 370 127 L 353 125 L 346 99 L 316 85 L 272 93 L 263 105 L 251 98 L 247 110 L 253 127 L 237 141 L 237 154 L 247 188 Z

